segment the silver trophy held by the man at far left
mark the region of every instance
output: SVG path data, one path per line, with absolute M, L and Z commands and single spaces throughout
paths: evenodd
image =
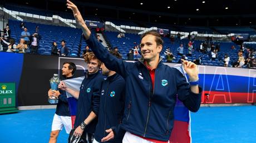
M 50 79 L 50 85 L 52 90 L 58 90 L 58 84 L 60 83 L 60 79 L 58 78 L 58 74 L 53 74 L 53 77 Z M 57 104 L 58 98 L 55 96 L 48 96 L 48 102 L 50 104 Z

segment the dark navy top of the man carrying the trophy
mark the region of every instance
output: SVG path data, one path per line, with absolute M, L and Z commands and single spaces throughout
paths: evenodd
M 73 76 L 65 79 L 72 79 Z M 56 107 L 55 114 L 59 116 L 70 116 L 70 109 L 68 108 L 68 101 L 67 101 L 67 95 L 66 91 L 59 90 L 60 96 L 58 96 L 58 104 Z

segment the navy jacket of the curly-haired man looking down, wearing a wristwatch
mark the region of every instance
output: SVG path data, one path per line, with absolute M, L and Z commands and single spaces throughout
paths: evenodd
M 85 79 L 83 79 L 77 100 L 75 128 L 80 126 L 81 122 L 85 121 L 91 111 L 98 115 L 101 94 L 100 89 L 103 80 L 104 78 L 99 71 L 93 74 L 86 74 Z M 96 124 L 97 119 L 92 120 L 84 131 L 93 134 Z

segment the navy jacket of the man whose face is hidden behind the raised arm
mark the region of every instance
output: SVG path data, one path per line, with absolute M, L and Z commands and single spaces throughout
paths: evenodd
M 120 124 L 125 106 L 125 80 L 119 74 L 114 74 L 102 83 L 98 124 L 94 138 L 101 139 L 108 135 L 105 130 L 112 129 L 115 139 L 107 142 L 122 142 L 124 132 L 120 131 Z

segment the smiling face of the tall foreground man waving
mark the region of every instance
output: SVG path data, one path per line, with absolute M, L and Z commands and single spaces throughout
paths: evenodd
M 154 35 L 146 35 L 141 39 L 140 47 L 143 58 L 149 60 L 159 57 L 163 45 L 156 44 Z

